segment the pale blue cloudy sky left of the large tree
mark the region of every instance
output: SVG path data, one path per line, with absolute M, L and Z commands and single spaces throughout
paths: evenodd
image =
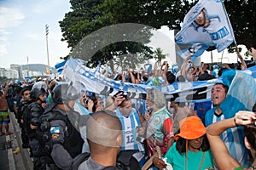
M 45 25 L 49 26 L 49 65 L 69 53 L 59 21 L 71 11 L 69 0 L 0 0 L 0 67 L 48 65 Z

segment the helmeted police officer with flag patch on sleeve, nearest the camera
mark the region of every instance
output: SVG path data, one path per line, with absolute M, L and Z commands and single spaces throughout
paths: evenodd
M 70 169 L 75 156 L 82 152 L 84 140 L 75 128 L 79 121 L 73 111 L 79 93 L 72 85 L 61 83 L 52 92 L 53 102 L 45 107 L 41 117 L 41 130 L 44 132 L 45 150 L 50 154 L 54 166 Z M 49 127 L 48 127 L 49 126 Z M 50 165 L 53 168 L 53 165 Z

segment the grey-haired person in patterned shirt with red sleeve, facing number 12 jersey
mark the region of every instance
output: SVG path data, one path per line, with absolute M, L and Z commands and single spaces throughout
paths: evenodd
M 148 121 L 143 122 L 143 126 L 147 127 L 148 156 L 154 155 L 156 146 L 160 147 L 161 155 L 164 156 L 174 141 L 172 118 L 166 109 L 166 98 L 158 88 L 151 88 L 148 90 L 146 103 L 149 110 L 152 110 L 150 116 L 147 114 Z

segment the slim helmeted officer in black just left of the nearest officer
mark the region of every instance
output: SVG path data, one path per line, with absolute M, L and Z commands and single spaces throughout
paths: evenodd
M 28 105 L 28 111 L 23 115 L 26 135 L 29 139 L 29 145 L 32 149 L 34 169 L 45 169 L 46 160 L 44 159 L 44 150 L 40 143 L 40 135 L 37 133 L 39 116 L 44 113 L 44 103 L 46 99 L 46 90 L 40 86 L 33 86 L 30 92 L 32 103 Z

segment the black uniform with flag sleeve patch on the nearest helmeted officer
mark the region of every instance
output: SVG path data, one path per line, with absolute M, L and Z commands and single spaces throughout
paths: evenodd
M 44 116 L 41 117 L 41 119 L 49 122 L 49 125 L 46 125 L 47 122 L 44 121 L 41 123 L 41 128 L 44 126 L 43 128 L 47 129 L 43 137 L 45 141 L 44 148 L 51 156 L 56 167 L 70 169 L 73 158 L 82 152 L 84 140 L 68 119 L 67 114 L 74 113 L 67 113 L 57 105 L 51 108 L 51 105 L 45 107 Z

